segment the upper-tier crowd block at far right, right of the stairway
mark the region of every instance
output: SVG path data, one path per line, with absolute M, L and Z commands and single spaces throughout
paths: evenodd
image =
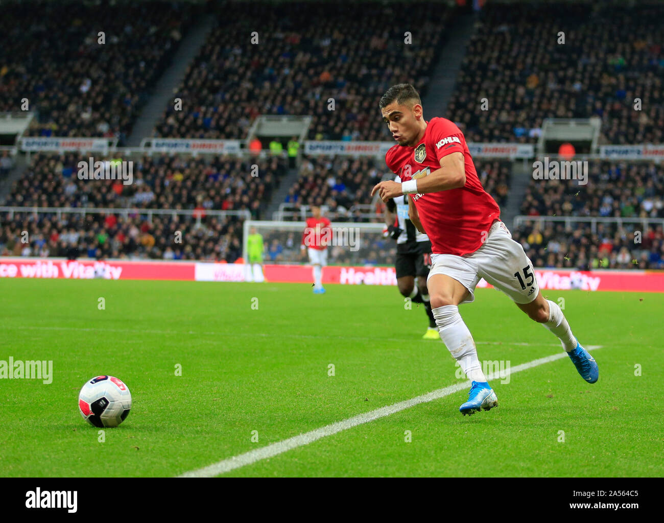
M 602 143 L 663 143 L 663 19 L 661 4 L 489 3 L 446 117 L 473 142 L 534 143 L 544 118 L 594 116 Z

